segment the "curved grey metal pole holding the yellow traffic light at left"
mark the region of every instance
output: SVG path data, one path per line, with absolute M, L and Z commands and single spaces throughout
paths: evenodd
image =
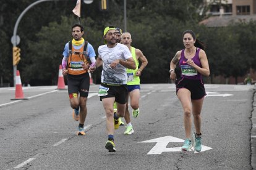
M 20 20 L 22 19 L 23 15 L 28 11 L 28 9 L 32 8 L 36 4 L 39 4 L 39 3 L 45 2 L 45 1 L 67 1 L 67 0 L 39 0 L 39 1 L 33 2 L 25 10 L 23 10 L 22 14 L 19 15 L 19 17 L 15 23 L 15 26 L 14 26 L 14 35 L 13 36 L 15 38 L 15 41 L 12 43 L 13 47 L 17 46 L 17 29 L 18 29 L 18 25 L 19 25 Z M 14 87 L 16 85 L 15 84 L 16 71 L 17 71 L 17 65 L 14 65 Z

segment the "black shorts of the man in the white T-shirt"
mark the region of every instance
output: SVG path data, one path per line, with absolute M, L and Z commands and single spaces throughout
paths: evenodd
M 110 86 L 110 85 L 101 83 L 101 86 L 109 88 L 107 95 L 100 96 L 101 101 L 102 101 L 102 99 L 105 99 L 105 98 L 115 97 L 115 100 L 116 100 L 117 103 L 120 103 L 120 104 L 125 104 L 126 103 L 126 99 L 127 99 L 127 96 L 128 96 L 128 89 L 127 89 L 126 84 L 123 84 L 123 85 L 120 85 L 120 86 Z

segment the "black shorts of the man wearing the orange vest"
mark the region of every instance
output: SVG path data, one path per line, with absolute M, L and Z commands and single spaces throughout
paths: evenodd
M 80 97 L 88 97 L 90 88 L 90 76 L 89 73 L 82 75 L 67 75 L 67 89 L 69 95 L 76 93 Z

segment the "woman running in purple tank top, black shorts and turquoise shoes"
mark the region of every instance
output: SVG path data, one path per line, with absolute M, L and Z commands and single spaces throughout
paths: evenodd
M 202 149 L 201 133 L 201 110 L 203 99 L 206 95 L 202 76 L 209 76 L 210 69 L 207 55 L 205 54 L 205 45 L 195 38 L 192 30 L 186 30 L 182 34 L 182 40 L 185 49 L 177 51 L 170 63 L 170 78 L 176 80 L 176 94 L 181 101 L 184 111 L 184 127 L 186 139 L 181 150 L 189 151 L 192 148 L 190 138 L 192 118 L 194 117 L 195 133 L 192 135 L 194 150 L 200 152 Z M 174 69 L 179 63 L 181 75 L 177 75 Z

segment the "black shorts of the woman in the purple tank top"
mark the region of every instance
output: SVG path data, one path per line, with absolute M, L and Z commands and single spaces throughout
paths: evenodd
M 179 78 L 175 81 L 176 84 L 176 94 L 179 89 L 186 88 L 191 92 L 191 99 L 198 100 L 202 99 L 206 95 L 205 86 L 202 79 L 187 79 Z

